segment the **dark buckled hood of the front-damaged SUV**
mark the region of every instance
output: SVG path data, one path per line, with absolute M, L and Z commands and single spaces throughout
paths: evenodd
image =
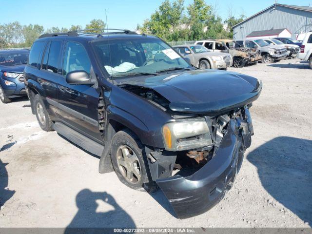
M 172 111 L 198 114 L 218 114 L 249 104 L 258 98 L 262 88 L 256 78 L 214 69 L 124 81 L 119 84 L 155 90 L 169 100 Z

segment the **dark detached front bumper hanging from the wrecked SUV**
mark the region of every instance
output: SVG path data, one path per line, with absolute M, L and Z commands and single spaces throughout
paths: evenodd
M 242 125 L 243 130 L 239 131 Z M 230 120 L 215 156 L 195 174 L 156 180 L 178 218 L 200 215 L 223 198 L 234 182 L 244 150 L 251 144 L 252 135 L 253 127 L 248 111 L 246 122 Z

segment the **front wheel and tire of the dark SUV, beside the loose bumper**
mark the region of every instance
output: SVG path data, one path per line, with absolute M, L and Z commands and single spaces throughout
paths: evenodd
M 139 191 L 155 192 L 158 189 L 149 176 L 144 146 L 131 131 L 125 129 L 114 135 L 111 158 L 117 177 L 123 184 Z

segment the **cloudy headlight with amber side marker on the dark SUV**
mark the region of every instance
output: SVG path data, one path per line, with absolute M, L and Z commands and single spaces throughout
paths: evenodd
M 212 144 L 204 118 L 166 123 L 162 128 L 162 135 L 168 151 L 190 150 Z

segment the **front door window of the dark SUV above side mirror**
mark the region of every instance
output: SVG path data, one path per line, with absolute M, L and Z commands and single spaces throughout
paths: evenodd
M 63 75 L 72 71 L 83 70 L 90 74 L 91 61 L 84 47 L 77 42 L 67 42 L 64 62 Z

